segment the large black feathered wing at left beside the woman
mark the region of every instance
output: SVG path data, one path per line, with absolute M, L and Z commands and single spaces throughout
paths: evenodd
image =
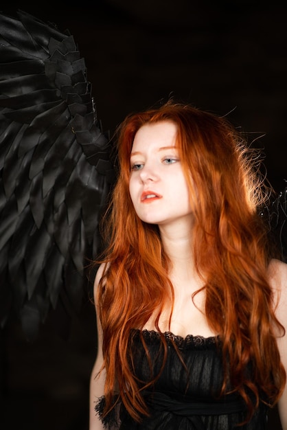
M 35 339 L 50 308 L 67 321 L 79 310 L 84 267 L 101 247 L 109 152 L 73 36 L 25 12 L 1 14 L 2 327 L 16 311 Z

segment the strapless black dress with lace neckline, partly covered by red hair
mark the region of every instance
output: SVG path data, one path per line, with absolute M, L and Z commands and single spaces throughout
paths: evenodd
M 223 369 L 218 337 L 188 335 L 183 338 L 170 332 L 165 332 L 164 336 L 168 343 L 165 367 L 152 389 L 143 392 L 150 416 L 140 423 L 135 422 L 119 403 L 103 420 L 107 429 L 266 429 L 268 408 L 263 403 L 246 425 L 238 427 L 246 418 L 245 403 L 235 393 L 219 398 Z M 155 331 L 133 330 L 131 341 L 136 374 L 141 381 L 150 381 L 152 374 L 142 338 L 154 359 L 152 373 L 156 375 L 163 357 L 161 337 Z M 95 407 L 98 414 L 101 415 L 103 407 L 104 398 L 101 398 Z

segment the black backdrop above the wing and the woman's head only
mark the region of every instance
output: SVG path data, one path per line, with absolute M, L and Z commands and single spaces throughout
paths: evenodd
M 68 28 L 86 59 L 97 111 L 113 133 L 124 116 L 170 95 L 228 115 L 263 136 L 268 177 L 287 177 L 286 5 L 257 1 L 6 2 Z

